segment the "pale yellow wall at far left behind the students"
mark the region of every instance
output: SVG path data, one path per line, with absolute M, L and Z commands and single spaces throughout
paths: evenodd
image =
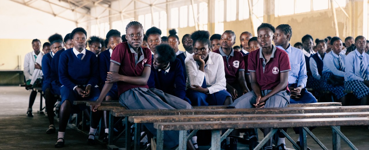
M 20 55 L 20 66 L 23 70 L 24 56 L 32 49 L 33 39 L 0 39 L 0 70 L 13 70 L 18 66 L 18 56 Z M 47 40 L 40 40 L 42 44 Z

